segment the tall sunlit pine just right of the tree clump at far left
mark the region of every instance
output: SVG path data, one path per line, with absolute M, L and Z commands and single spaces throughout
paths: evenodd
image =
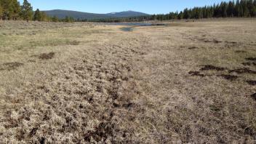
M 32 20 L 33 7 L 31 7 L 31 4 L 28 2 L 28 0 L 24 0 L 23 2 L 23 6 L 21 7 L 21 16 L 23 17 L 23 20 Z

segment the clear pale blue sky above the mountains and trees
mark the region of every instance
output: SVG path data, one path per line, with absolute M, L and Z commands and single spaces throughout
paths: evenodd
M 67 9 L 80 12 L 109 13 L 134 10 L 148 14 L 165 14 L 185 7 L 199 7 L 222 0 L 28 0 L 33 9 Z M 226 1 L 226 0 L 223 0 Z M 20 0 L 23 3 L 23 0 Z

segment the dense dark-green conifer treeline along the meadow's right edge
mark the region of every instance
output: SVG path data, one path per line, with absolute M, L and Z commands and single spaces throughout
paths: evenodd
M 256 17 L 256 0 L 221 2 L 213 6 L 194 7 L 167 15 L 152 15 L 153 20 L 201 19 L 210 17 Z

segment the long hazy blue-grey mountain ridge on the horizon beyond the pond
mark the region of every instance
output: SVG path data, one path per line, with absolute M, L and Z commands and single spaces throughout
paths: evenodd
M 58 18 L 65 18 L 73 17 L 75 19 L 103 19 L 103 18 L 119 18 L 119 17 L 137 17 L 137 16 L 144 16 L 148 15 L 143 12 L 134 12 L 134 11 L 125 11 L 125 12 L 111 12 L 108 14 L 94 14 L 94 13 L 88 13 L 88 12 L 76 12 L 71 10 L 62 10 L 62 9 L 54 9 L 54 10 L 48 10 L 44 11 L 49 16 L 56 16 Z

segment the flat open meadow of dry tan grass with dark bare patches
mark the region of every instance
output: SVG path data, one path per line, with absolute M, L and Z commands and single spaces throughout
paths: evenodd
M 256 143 L 256 19 L 0 21 L 0 143 Z

